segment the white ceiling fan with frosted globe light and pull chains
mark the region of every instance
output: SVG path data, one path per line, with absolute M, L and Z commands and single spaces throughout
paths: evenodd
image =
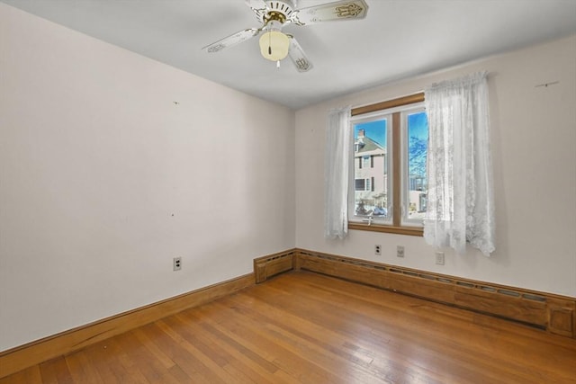
M 317 22 L 364 19 L 368 10 L 365 0 L 341 0 L 334 3 L 313 5 L 298 9 L 296 0 L 246 0 L 260 28 L 238 31 L 202 48 L 206 52 L 219 52 L 240 42 L 252 39 L 264 31 L 260 37 L 260 53 L 264 58 L 276 62 L 289 56 L 299 72 L 311 70 L 312 63 L 293 35 L 285 34 L 282 28 L 290 23 L 310 25 Z

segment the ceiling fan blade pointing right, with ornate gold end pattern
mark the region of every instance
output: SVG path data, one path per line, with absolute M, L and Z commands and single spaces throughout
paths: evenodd
M 293 12 L 290 20 L 298 25 L 310 25 L 316 22 L 364 19 L 367 11 L 365 0 L 342 0 L 298 9 Z

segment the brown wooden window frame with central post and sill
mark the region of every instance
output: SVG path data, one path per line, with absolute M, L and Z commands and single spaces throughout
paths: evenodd
M 381 103 L 374 103 L 362 107 L 353 108 L 350 115 L 356 117 L 360 115 L 367 115 L 368 113 L 383 112 L 384 110 L 392 110 L 398 107 L 410 108 L 410 104 L 419 104 L 424 102 L 424 93 L 411 94 L 409 96 L 400 97 L 384 101 Z M 403 177 L 403 164 L 405 160 L 402 158 L 405 151 L 399 150 L 402 146 L 402 132 L 401 132 L 401 112 L 392 112 L 392 156 L 389 156 L 389 161 L 392 162 L 391 172 L 392 175 L 392 224 L 374 224 L 373 222 L 357 222 L 348 219 L 348 229 L 367 230 L 375 232 L 393 233 L 398 235 L 409 235 L 422 237 L 424 228 L 410 226 L 410 223 L 402 222 L 402 205 L 403 199 L 401 198 L 402 179 Z M 354 157 L 352 158 L 354 162 Z M 352 168 L 354 169 L 354 167 Z M 352 180 L 355 180 L 353 175 Z M 400 188 L 398 186 L 401 186 Z

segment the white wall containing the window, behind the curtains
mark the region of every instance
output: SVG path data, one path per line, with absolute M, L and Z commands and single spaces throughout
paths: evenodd
M 440 52 L 438 54 L 441 54 Z M 353 230 L 322 237 L 323 159 L 330 108 L 360 106 L 489 71 L 497 251 L 446 252 L 422 237 Z M 548 82 L 549 87 L 535 87 Z M 419 270 L 576 296 L 576 36 L 351 94 L 296 112 L 296 245 Z M 374 245 L 383 255 L 374 256 Z M 396 246 L 405 246 L 405 258 Z

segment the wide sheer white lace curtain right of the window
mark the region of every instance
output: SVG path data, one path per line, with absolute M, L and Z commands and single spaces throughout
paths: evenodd
M 464 254 L 494 251 L 487 73 L 432 85 L 428 114 L 428 207 L 424 238 Z

